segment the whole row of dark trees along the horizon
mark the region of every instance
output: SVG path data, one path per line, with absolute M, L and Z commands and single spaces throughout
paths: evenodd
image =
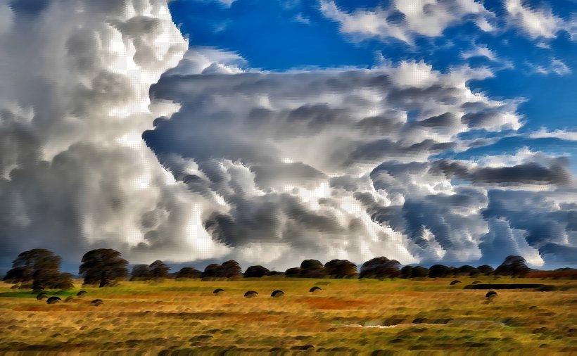
M 20 253 L 12 262 L 12 269 L 4 276 L 4 281 L 20 284 L 21 288 L 32 288 L 34 291 L 45 289 L 72 288 L 72 274 L 61 272 L 62 258 L 52 251 L 43 248 Z M 286 269 L 285 272 L 271 271 L 261 265 L 248 267 L 245 272 L 238 262 L 229 260 L 222 264 L 213 263 L 199 271 L 194 267 L 184 267 L 170 274 L 170 267 L 163 261 L 156 260 L 150 265 L 135 265 L 129 272 L 129 262 L 122 258 L 117 250 L 99 248 L 91 250 L 82 257 L 78 274 L 84 284 L 94 286 L 113 286 L 118 281 L 129 278 L 129 281 L 148 281 L 166 278 L 175 279 L 215 279 L 215 278 L 260 278 L 263 276 L 284 275 L 291 278 L 440 278 L 450 276 L 501 275 L 524 276 L 529 272 L 526 260 L 521 256 L 508 256 L 505 261 L 493 269 L 489 265 L 473 267 L 449 267 L 433 265 L 404 266 L 397 260 L 381 256 L 364 262 L 360 269 L 348 260 L 331 260 L 324 265 L 319 260 L 304 260 L 300 267 Z

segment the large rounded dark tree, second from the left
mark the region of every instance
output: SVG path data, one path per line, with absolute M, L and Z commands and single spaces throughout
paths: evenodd
M 84 253 L 79 274 L 84 284 L 98 284 L 100 287 L 124 279 L 128 274 L 128 261 L 120 257 L 121 253 L 111 248 L 99 248 Z

